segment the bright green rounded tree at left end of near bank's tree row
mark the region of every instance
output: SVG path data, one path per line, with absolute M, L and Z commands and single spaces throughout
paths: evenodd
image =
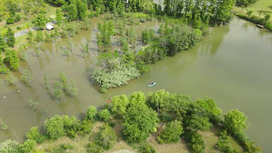
M 49 139 L 57 139 L 65 134 L 63 120 L 59 115 L 46 119 L 44 128 Z

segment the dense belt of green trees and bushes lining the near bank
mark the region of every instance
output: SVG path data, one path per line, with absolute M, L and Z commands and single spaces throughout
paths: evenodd
M 102 110 L 88 107 L 82 120 L 74 116 L 55 115 L 44 121 L 45 133 L 41 133 L 38 127 L 32 127 L 26 133 L 24 142 L 7 140 L 0 143 L 0 152 L 65 152 L 77 147 L 69 143 L 54 148 L 46 148 L 46 145 L 39 147 L 61 137 L 70 137 L 72 140 L 90 137 L 81 149 L 102 152 L 116 143 L 117 135 L 113 129 L 116 120 L 121 122 L 122 139 L 139 152 L 156 152 L 146 141 L 154 133 L 158 143 L 177 143 L 184 139 L 191 152 L 204 152 L 206 144 L 200 132 L 209 131 L 213 126 L 223 131 L 214 146 L 217 150 L 261 152 L 261 148 L 245 134 L 248 124 L 244 113 L 234 109 L 223 116 L 211 98 L 193 101 L 186 95 L 170 94 L 165 90 L 148 93 L 147 97 L 142 92 L 115 96 L 111 105 L 106 104 Z M 90 135 L 96 122 L 102 125 L 96 135 Z M 239 142 L 243 150 L 230 145 L 231 137 Z

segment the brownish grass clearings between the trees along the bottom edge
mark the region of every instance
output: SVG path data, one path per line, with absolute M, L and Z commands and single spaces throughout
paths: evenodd
M 121 121 L 114 120 L 116 123 L 116 126 L 113 128 L 117 135 L 117 141 L 113 145 L 113 147 L 109 150 L 106 150 L 104 152 L 110 153 L 114 152 L 120 149 L 128 149 L 134 152 L 137 152 L 137 143 L 127 143 L 122 139 L 122 127 L 121 127 Z M 47 141 L 40 145 L 37 145 L 37 149 L 44 149 L 45 152 L 50 152 L 50 150 L 53 150 L 54 147 L 59 146 L 60 144 L 71 144 L 73 145 L 74 149 L 69 152 L 75 152 L 75 153 L 87 153 L 86 145 L 94 140 L 94 137 L 97 135 L 99 128 L 103 125 L 103 122 L 97 122 L 94 125 L 93 132 L 85 137 L 76 137 L 74 139 L 68 138 L 68 137 L 62 137 L 59 138 L 56 141 Z M 205 152 L 213 153 L 213 152 L 220 152 L 215 148 L 215 144 L 218 141 L 218 134 L 221 132 L 219 127 L 212 127 L 211 131 L 209 132 L 200 132 L 200 134 L 203 137 L 203 140 L 206 143 L 206 150 Z M 151 136 L 147 139 L 147 142 L 152 145 L 156 152 L 158 153 L 170 153 L 170 152 L 177 152 L 177 153 L 188 153 L 190 152 L 187 146 L 187 143 L 181 139 L 178 143 L 169 143 L 169 144 L 160 144 L 156 140 L 156 136 L 158 133 L 153 133 Z M 231 139 L 231 147 L 236 148 L 237 150 L 242 152 L 242 148 L 237 144 L 236 141 Z

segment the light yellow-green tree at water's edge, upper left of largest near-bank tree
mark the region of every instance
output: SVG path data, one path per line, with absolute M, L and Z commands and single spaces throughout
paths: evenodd
M 116 114 L 119 117 L 123 117 L 126 113 L 126 106 L 128 105 L 128 98 L 126 95 L 114 96 L 111 99 L 112 108 L 111 111 L 113 114 Z

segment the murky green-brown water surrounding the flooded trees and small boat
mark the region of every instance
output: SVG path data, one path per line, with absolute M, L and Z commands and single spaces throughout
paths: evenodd
M 25 87 L 21 81 L 17 87 L 8 86 L 5 76 L 0 75 L 0 117 L 9 126 L 8 131 L 0 131 L 0 141 L 14 138 L 12 129 L 23 138 L 32 126 L 43 127 L 46 117 L 54 114 L 67 114 L 83 117 L 89 105 L 101 107 L 109 97 L 134 91 L 156 91 L 165 89 L 171 93 L 183 93 L 192 99 L 209 96 L 214 98 L 223 113 L 231 109 L 240 109 L 248 116 L 247 133 L 261 145 L 265 152 L 272 150 L 267 138 L 272 137 L 267 120 L 272 107 L 272 35 L 265 29 L 234 18 L 230 25 L 211 28 L 210 35 L 195 48 L 183 51 L 174 57 L 167 57 L 152 65 L 152 69 L 120 88 L 100 94 L 90 83 L 89 77 L 96 67 L 97 54 L 96 32 L 101 19 L 92 20 L 89 31 L 81 31 L 74 38 L 75 55 L 67 58 L 63 54 L 66 40 L 57 43 L 45 43 L 41 57 L 35 55 L 31 47 L 27 50 L 27 62 L 15 76 L 20 80 L 24 68 L 33 74 L 32 88 Z M 158 29 L 159 22 L 152 21 L 135 27 L 137 36 L 146 28 Z M 81 44 L 90 39 L 90 56 L 83 58 Z M 140 48 L 138 46 L 138 48 Z M 67 78 L 76 81 L 80 92 L 76 98 L 65 96 L 59 102 L 52 97 L 53 90 L 43 88 L 43 73 L 48 75 L 50 86 L 57 81 L 57 74 L 62 71 Z M 147 85 L 156 82 L 153 88 Z M 20 93 L 17 91 L 20 90 Z M 2 99 L 7 96 L 6 99 Z M 28 99 L 40 101 L 33 111 L 28 106 Z M 42 108 L 48 110 L 45 116 Z

